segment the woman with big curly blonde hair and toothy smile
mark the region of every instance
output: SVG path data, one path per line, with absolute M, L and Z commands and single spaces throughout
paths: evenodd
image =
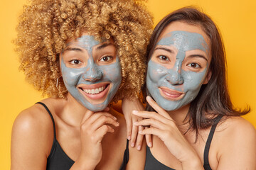
M 144 1 L 23 7 L 14 40 L 20 69 L 50 98 L 16 118 L 11 169 L 144 169 L 145 147 L 129 147 L 124 116 L 107 106 L 137 97 L 151 28 Z

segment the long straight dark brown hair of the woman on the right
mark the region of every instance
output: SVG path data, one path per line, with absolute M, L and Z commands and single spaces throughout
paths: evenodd
M 230 101 L 226 79 L 227 65 L 223 40 L 215 23 L 213 23 L 206 13 L 199 11 L 197 8 L 180 8 L 164 17 L 157 24 L 147 47 L 146 62 L 149 62 L 161 32 L 174 21 L 182 21 L 193 26 L 200 26 L 206 35 L 208 35 L 208 38 L 210 38 L 211 43 L 210 51 L 212 59 L 210 62 L 210 71 L 212 75 L 208 84 L 201 86 L 198 96 L 191 102 L 185 119 L 190 123 L 188 130 L 196 130 L 196 134 L 198 134 L 199 129 L 206 129 L 213 125 L 218 115 L 224 115 L 225 118 L 228 118 L 228 116 L 240 116 L 249 113 L 250 107 L 245 108 L 243 111 L 235 109 L 233 103 Z M 144 96 L 150 95 L 146 89 L 146 84 L 144 85 L 143 91 Z M 146 106 L 146 110 L 153 111 L 149 105 Z

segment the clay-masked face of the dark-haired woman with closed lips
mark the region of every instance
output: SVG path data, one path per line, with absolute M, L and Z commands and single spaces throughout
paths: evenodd
M 164 28 L 149 60 L 146 86 L 156 103 L 174 111 L 191 103 L 210 79 L 210 40 L 199 26 Z

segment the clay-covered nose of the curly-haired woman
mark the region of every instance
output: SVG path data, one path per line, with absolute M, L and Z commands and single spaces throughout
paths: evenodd
M 90 69 L 82 75 L 82 78 L 85 79 L 85 81 L 97 81 L 102 79 L 102 76 L 102 71 L 97 66 L 92 64 L 92 67 L 90 67 Z

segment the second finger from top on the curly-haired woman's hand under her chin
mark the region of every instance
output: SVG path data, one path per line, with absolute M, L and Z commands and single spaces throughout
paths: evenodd
M 100 118 L 97 118 L 97 120 L 90 125 L 90 130 L 96 131 L 97 129 L 106 124 L 113 125 L 115 127 L 119 126 L 119 123 L 113 118 L 106 115 L 101 115 Z

